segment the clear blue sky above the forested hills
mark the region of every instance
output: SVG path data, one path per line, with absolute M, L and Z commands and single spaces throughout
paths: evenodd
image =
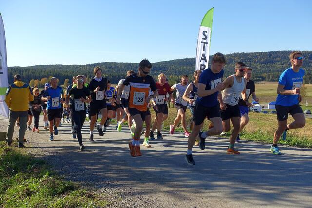
M 211 7 L 210 54 L 312 50 L 310 0 L 0 0 L 8 66 L 193 58 Z

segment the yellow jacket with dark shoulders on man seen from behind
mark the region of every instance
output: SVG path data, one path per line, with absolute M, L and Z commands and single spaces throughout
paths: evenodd
M 15 81 L 6 90 L 5 102 L 11 111 L 27 111 L 29 102 L 33 100 L 30 86 L 22 81 Z

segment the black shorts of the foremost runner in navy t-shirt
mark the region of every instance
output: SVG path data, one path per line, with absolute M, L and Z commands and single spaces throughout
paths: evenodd
M 217 117 L 220 118 L 221 117 L 220 105 L 217 104 L 213 107 L 206 107 L 196 102 L 193 115 L 195 125 L 196 126 L 201 125 L 206 117 L 207 119 Z

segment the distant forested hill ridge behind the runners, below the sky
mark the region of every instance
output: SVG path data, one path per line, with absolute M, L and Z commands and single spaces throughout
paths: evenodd
M 225 66 L 225 76 L 234 73 L 234 64 L 237 61 L 246 63 L 247 66 L 253 68 L 253 79 L 255 81 L 277 81 L 280 73 L 290 67 L 289 54 L 291 51 L 270 51 L 270 52 L 253 52 L 253 53 L 233 53 L 225 55 L 227 65 Z M 303 68 L 306 70 L 304 80 L 306 83 L 312 83 L 312 51 L 303 51 L 305 60 Z M 209 57 L 211 61 L 212 56 Z M 150 61 L 153 61 L 152 59 Z M 37 65 L 30 67 L 9 67 L 9 83 L 13 82 L 14 74 L 21 74 L 23 80 L 30 82 L 31 80 L 41 80 L 44 77 L 49 78 L 55 76 L 59 78 L 60 84 L 65 79 L 71 80 L 74 75 L 82 74 L 93 77 L 93 68 L 100 66 L 103 69 L 105 77 L 112 83 L 117 83 L 125 77 L 127 70 L 137 71 L 137 63 L 115 63 L 102 62 L 86 65 Z M 169 77 L 171 83 L 179 80 L 183 74 L 193 75 L 195 70 L 195 58 L 177 59 L 171 61 L 163 61 L 153 63 L 151 75 L 154 78 L 161 72 Z M 37 83 L 39 83 L 37 81 Z M 41 84 L 37 86 L 41 87 Z

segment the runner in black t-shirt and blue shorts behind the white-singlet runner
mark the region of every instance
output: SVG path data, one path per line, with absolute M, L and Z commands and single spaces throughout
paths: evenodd
M 242 94 L 246 94 L 245 97 L 247 98 L 246 101 L 242 98 L 242 95 L 239 98 L 238 105 L 239 105 L 239 110 L 240 110 L 240 129 L 239 132 L 242 132 L 244 127 L 248 124 L 249 122 L 249 117 L 248 117 L 248 108 L 251 106 L 251 103 L 248 101 L 250 95 L 252 95 L 254 101 L 259 102 L 259 99 L 255 95 L 255 85 L 250 78 L 252 77 L 252 68 L 246 67 L 245 68 L 245 79 L 247 80 L 246 84 L 246 91 L 243 92 Z M 239 134 L 236 138 L 236 142 L 240 142 Z

